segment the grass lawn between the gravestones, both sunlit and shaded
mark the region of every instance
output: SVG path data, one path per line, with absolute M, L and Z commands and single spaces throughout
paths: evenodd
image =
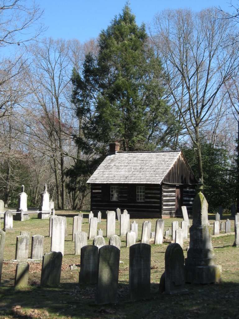
M 95 286 L 79 285 L 78 270 L 70 270 L 70 265 L 80 264 L 80 256 L 75 255 L 75 243 L 72 241 L 73 216 L 76 212 L 56 211 L 57 215 L 67 217 L 68 235 L 65 238 L 65 254 L 62 260 L 61 284 L 57 288 L 41 288 L 41 261 L 29 260 L 28 286 L 14 289 L 14 278 L 17 262 L 15 258 L 16 236 L 20 231 L 30 231 L 31 236 L 44 235 L 44 253 L 50 252 L 49 220 L 37 219 L 31 215 L 27 221 L 14 221 L 14 231 L 6 233 L 4 263 L 0 287 L 0 318 L 239 318 L 239 249 L 233 247 L 234 235 L 222 235 L 212 238 L 217 264 L 222 266 L 222 282 L 210 285 L 187 284 L 188 293 L 183 295 L 166 295 L 158 293 L 160 277 L 164 271 L 164 253 L 170 241 L 163 245 L 151 244 L 151 294 L 147 300 L 131 301 L 128 297 L 129 248 L 126 238 L 121 237 L 120 271 L 118 303 L 113 305 L 95 305 Z M 84 217 L 87 215 L 84 215 Z M 208 216 L 210 223 L 215 215 Z M 231 219 L 225 216 L 224 219 Z M 132 219 L 138 223 L 139 239 L 144 219 Z M 183 220 L 165 219 L 165 229 L 173 220 L 179 225 Z M 151 219 L 152 231 L 156 219 Z M 192 219 L 190 219 L 192 223 Z M 3 220 L 1 220 L 3 228 Z M 106 220 L 98 228 L 106 235 Z M 231 219 L 231 230 L 234 221 Z M 82 230 L 89 233 L 88 218 L 84 218 Z M 120 234 L 120 222 L 116 221 L 116 234 Z M 30 236 L 30 237 L 31 237 Z M 108 238 L 105 238 L 106 244 Z M 139 242 L 139 241 L 138 241 Z M 88 240 L 92 244 L 92 240 Z M 189 240 L 184 243 L 184 254 Z M 31 238 L 29 242 L 29 258 Z

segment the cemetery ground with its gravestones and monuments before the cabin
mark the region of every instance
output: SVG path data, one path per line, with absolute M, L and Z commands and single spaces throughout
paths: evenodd
M 8 208 L 0 318 L 236 318 L 239 214 L 208 213 L 200 181 L 196 194 L 192 215 L 164 219 L 50 211 L 48 197 L 48 218 Z

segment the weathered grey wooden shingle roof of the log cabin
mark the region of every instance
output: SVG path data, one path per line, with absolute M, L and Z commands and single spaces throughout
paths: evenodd
M 177 152 L 118 152 L 108 155 L 88 179 L 92 184 L 161 184 Z

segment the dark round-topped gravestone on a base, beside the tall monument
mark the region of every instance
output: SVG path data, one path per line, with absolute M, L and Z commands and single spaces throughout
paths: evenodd
M 161 292 L 186 293 L 184 278 L 184 253 L 177 243 L 170 244 L 165 251 L 165 272 L 160 279 Z

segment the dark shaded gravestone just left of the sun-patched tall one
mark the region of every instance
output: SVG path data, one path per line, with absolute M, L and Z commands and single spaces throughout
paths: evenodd
M 98 247 L 84 246 L 81 249 L 79 283 L 96 284 L 98 271 Z

